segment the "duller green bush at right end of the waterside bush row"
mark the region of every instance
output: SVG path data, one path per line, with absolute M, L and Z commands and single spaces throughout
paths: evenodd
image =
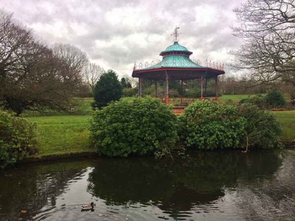
M 242 104 L 239 113 L 247 120 L 245 133 L 249 147 L 272 148 L 282 133 L 280 124 L 268 111 L 261 111 L 255 105 Z

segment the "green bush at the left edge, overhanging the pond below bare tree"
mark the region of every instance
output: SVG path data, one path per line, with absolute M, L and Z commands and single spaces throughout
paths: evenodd
M 35 153 L 36 124 L 0 111 L 0 167 Z

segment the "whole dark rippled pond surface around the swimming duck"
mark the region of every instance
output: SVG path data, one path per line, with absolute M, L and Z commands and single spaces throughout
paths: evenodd
M 93 211 L 80 206 L 94 202 Z M 0 171 L 0 221 L 294 221 L 295 150 L 94 158 Z

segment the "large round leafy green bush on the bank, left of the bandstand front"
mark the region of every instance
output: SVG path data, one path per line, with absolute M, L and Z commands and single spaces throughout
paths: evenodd
M 159 156 L 178 139 L 177 117 L 151 97 L 121 98 L 93 112 L 91 137 L 98 153 L 108 156 Z

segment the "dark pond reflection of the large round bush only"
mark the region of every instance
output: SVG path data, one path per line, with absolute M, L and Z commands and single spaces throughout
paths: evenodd
M 152 158 L 99 161 L 89 174 L 88 191 L 105 199 L 106 204 L 158 200 L 176 188 L 173 174 L 162 166 Z

